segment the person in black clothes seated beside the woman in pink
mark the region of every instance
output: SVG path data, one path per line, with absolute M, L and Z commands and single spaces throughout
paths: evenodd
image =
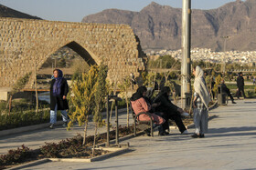
M 160 103 L 160 105 L 155 107 L 155 111 L 164 113 L 163 118 L 166 120 L 166 122 L 163 125 L 163 127 L 165 130 L 165 133 L 166 133 L 166 130 L 169 130 L 169 125 L 167 120 L 172 119 L 175 121 L 181 134 L 187 135 L 188 134 L 187 128 L 185 127 L 181 119 L 181 114 L 183 114 L 184 111 L 182 108 L 179 108 L 178 106 L 174 105 L 171 102 L 171 100 L 169 99 L 170 92 L 171 92 L 171 89 L 168 86 L 164 86 L 161 89 L 160 94 L 155 97 L 154 103 Z

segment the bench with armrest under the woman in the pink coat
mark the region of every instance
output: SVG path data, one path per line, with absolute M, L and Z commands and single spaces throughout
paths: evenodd
M 152 116 L 150 113 L 146 113 L 146 112 L 141 112 L 138 115 L 135 115 L 134 111 L 133 111 L 133 107 L 132 107 L 132 103 L 130 103 L 130 108 L 133 114 L 133 121 L 134 121 L 134 136 L 136 136 L 136 127 L 139 126 L 141 129 L 144 129 L 145 131 L 148 130 L 150 128 L 151 133 L 150 135 L 153 137 L 154 136 L 154 122 L 152 119 Z M 149 121 L 140 121 L 139 120 L 139 115 L 148 115 L 150 117 Z

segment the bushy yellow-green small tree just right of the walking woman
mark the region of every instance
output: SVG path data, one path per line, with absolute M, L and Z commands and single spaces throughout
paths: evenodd
M 73 122 L 78 121 L 79 125 L 84 125 L 83 145 L 87 136 L 88 117 L 92 113 L 94 106 L 94 97 L 96 91 L 96 83 L 98 78 L 98 67 L 91 66 L 88 74 L 82 73 L 80 79 L 74 80 L 71 85 L 72 96 L 71 102 L 75 106 L 75 111 L 69 115 L 71 121 L 69 128 Z

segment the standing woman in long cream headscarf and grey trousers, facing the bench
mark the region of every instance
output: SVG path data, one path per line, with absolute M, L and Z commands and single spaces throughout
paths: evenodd
M 196 132 L 191 137 L 202 138 L 208 132 L 208 103 L 210 95 L 204 78 L 204 71 L 197 66 L 193 69 L 193 75 L 195 75 L 193 113 Z

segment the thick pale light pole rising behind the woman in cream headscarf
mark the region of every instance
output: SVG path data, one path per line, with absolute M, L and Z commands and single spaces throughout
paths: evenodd
M 182 64 L 181 64 L 181 98 L 186 99 L 182 104 L 185 108 L 187 104 L 187 94 L 191 95 L 191 0 L 183 0 L 182 3 Z

